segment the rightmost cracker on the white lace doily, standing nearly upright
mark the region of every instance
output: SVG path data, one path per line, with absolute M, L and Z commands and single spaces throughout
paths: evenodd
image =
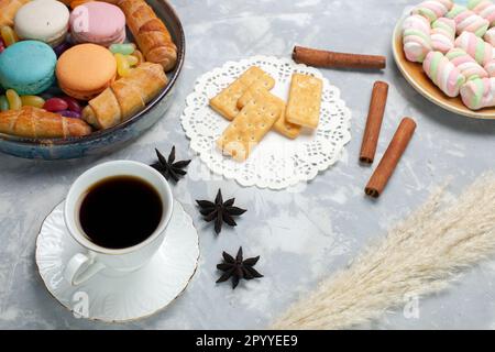
M 309 75 L 294 74 L 285 111 L 287 121 L 316 129 L 320 121 L 322 90 L 323 81 L 321 79 Z

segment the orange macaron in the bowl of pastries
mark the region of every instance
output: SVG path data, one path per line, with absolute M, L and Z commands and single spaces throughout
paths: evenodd
M 117 62 L 112 53 L 96 44 L 75 45 L 58 58 L 58 86 L 68 96 L 90 100 L 116 79 Z

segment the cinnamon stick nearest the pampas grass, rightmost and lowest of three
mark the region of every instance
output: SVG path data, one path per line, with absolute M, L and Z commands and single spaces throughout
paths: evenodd
M 367 196 L 378 198 L 383 193 L 388 179 L 397 167 L 400 156 L 406 151 L 415 130 L 416 122 L 410 118 L 404 118 L 395 132 L 387 151 L 383 155 L 382 161 L 367 183 L 364 190 Z

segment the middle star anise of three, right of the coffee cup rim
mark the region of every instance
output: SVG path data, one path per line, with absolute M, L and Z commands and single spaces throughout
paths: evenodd
M 215 220 L 215 232 L 217 232 L 217 234 L 222 231 L 223 222 L 231 227 L 235 227 L 237 222 L 232 217 L 239 217 L 246 212 L 245 209 L 234 207 L 234 201 L 235 198 L 223 201 L 222 191 L 220 189 L 215 198 L 215 202 L 209 200 L 196 200 L 200 208 L 199 211 L 205 217 L 205 220 L 208 222 Z

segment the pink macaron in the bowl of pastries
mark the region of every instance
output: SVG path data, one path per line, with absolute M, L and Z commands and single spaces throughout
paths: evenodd
M 70 13 L 70 35 L 75 43 L 102 46 L 125 41 L 125 15 L 117 6 L 91 1 L 78 6 Z

